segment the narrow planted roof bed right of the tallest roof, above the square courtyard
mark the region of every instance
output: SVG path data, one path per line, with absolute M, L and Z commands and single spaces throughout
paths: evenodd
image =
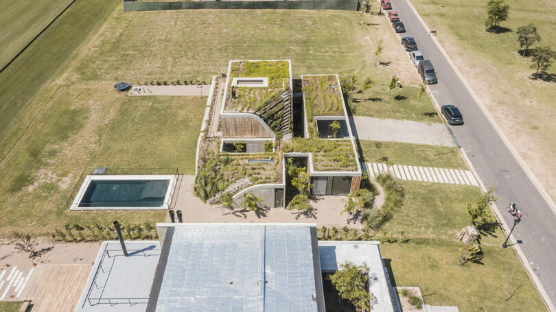
M 315 116 L 343 116 L 342 95 L 336 75 L 303 76 L 305 110 L 309 120 Z

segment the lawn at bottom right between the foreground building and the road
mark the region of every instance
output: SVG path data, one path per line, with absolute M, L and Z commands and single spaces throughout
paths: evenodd
M 461 312 L 546 311 L 521 263 L 513 273 L 514 296 L 505 301 L 516 263 L 511 248 L 483 244 L 483 265 L 460 266 L 461 245 L 449 239 L 412 239 L 382 243 L 380 252 L 391 266 L 393 283 L 420 287 L 426 304 L 453 305 Z

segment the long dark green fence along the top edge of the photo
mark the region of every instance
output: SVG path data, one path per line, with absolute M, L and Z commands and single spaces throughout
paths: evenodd
M 242 10 L 346 10 L 356 11 L 360 0 L 312 1 L 124 1 L 124 11 L 242 9 Z

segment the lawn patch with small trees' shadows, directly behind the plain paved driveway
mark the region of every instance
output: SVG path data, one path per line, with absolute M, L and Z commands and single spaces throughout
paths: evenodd
M 430 97 L 426 93 L 419 97 L 419 87 L 416 86 L 392 91 L 388 86 L 373 86 L 356 93 L 350 102 L 351 112 L 356 116 L 442 122 Z

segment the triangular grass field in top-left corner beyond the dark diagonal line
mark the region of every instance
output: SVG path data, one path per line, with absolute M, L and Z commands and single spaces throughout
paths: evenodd
M 0 68 L 42 31 L 71 0 L 0 0 Z

